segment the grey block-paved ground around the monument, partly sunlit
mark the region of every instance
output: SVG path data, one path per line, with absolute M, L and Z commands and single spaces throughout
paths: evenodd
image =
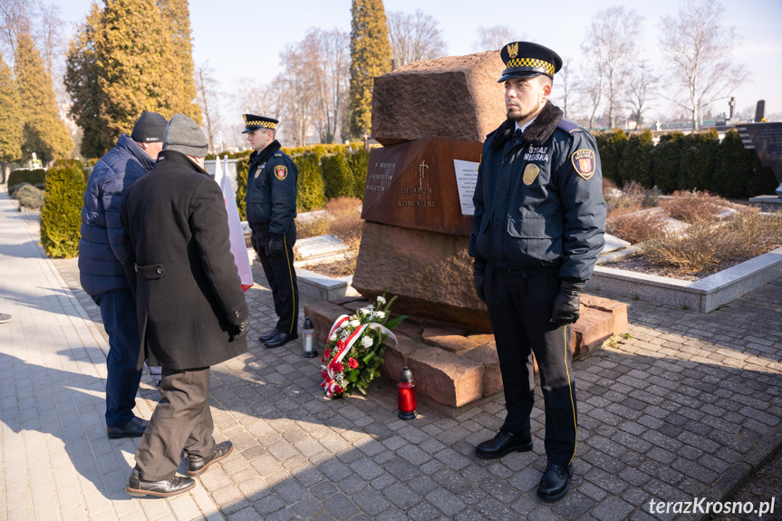
M 696 519 L 649 502 L 723 498 L 782 444 L 782 280 L 705 315 L 625 301 L 627 338 L 574 362 L 575 477 L 553 505 L 535 494 L 540 407 L 533 451 L 486 461 L 473 449 L 501 425 L 502 400 L 457 419 L 421 406 L 410 421 L 388 381 L 324 400 L 301 343 L 256 342 L 275 322 L 261 280 L 246 293 L 249 352 L 212 371 L 215 435 L 236 450 L 192 493 L 130 498 L 137 440 L 105 437 L 97 306 L 75 261 L 45 259 L 37 216 L 14 205 L 0 193 L 0 312 L 14 314 L 0 324 L 0 519 Z M 138 414 L 157 399 L 145 375 Z

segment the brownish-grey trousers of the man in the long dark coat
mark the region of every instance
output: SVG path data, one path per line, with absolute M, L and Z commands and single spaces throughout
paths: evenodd
M 209 368 L 179 371 L 164 367 L 162 376 L 163 399 L 136 449 L 136 467 L 141 479 L 147 481 L 173 478 L 182 449 L 208 457 L 216 446 L 212 438 L 215 424 L 207 401 Z

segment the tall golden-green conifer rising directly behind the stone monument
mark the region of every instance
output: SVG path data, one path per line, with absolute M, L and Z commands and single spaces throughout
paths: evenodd
M 372 130 L 375 76 L 391 71 L 391 43 L 382 0 L 352 0 L 350 131 L 360 138 Z

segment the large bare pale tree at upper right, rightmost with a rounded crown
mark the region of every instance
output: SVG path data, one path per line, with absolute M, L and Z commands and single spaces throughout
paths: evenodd
M 671 63 L 671 82 L 687 92 L 686 99 L 665 99 L 689 112 L 693 130 L 699 127 L 703 108 L 729 97 L 747 75 L 744 65 L 732 61 L 739 34 L 722 24 L 723 13 L 719 2 L 686 0 L 678 18 L 661 20 L 660 45 Z

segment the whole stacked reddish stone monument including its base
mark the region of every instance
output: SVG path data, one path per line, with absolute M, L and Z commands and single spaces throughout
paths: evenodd
M 352 286 L 370 302 L 386 288 L 399 297 L 392 311 L 410 319 L 394 330 L 399 344 L 387 347 L 381 371 L 397 380 L 409 366 L 420 398 L 453 415 L 502 391 L 468 243 L 483 141 L 506 119 L 504 67 L 498 52 L 412 63 L 375 78 L 372 92 L 372 138 L 384 146 L 370 152 Z M 365 304 L 304 313 L 324 343 L 338 316 Z M 584 295 L 582 306 L 575 354 L 627 327 L 624 304 Z

